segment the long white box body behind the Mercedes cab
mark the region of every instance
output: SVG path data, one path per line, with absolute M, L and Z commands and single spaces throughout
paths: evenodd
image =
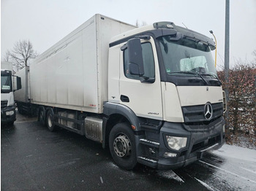
M 135 28 L 94 15 L 30 66 L 31 103 L 102 113 L 108 101 L 110 38 Z

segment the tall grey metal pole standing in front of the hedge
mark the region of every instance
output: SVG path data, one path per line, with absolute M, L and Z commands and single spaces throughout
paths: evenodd
M 230 69 L 230 0 L 226 0 L 226 14 L 225 14 L 225 82 L 226 85 L 226 96 L 227 96 L 227 112 L 226 112 L 226 120 L 227 120 L 227 128 L 229 123 L 229 69 Z

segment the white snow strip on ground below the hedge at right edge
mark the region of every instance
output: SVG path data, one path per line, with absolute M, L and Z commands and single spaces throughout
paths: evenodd
M 224 144 L 219 150 L 213 151 L 215 155 L 222 157 L 233 157 L 256 163 L 256 150 Z

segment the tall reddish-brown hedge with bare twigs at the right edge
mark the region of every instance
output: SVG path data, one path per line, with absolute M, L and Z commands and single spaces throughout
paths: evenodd
M 253 61 L 236 61 L 229 71 L 228 84 L 225 71 L 218 71 L 222 86 L 229 90 L 227 141 L 241 135 L 256 135 L 256 50 L 253 55 Z

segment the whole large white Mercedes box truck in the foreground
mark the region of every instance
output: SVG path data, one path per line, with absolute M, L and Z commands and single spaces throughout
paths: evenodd
M 172 22 L 94 15 L 20 71 L 18 110 L 109 147 L 115 163 L 171 169 L 225 141 L 214 41 Z

